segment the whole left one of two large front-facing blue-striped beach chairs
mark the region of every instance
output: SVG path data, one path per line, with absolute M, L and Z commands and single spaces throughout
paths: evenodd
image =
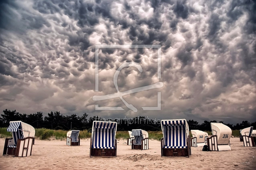
M 116 157 L 116 122 L 93 121 L 90 157 Z

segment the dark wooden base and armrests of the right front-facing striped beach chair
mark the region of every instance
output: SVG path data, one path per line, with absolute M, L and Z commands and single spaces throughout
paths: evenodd
M 191 155 L 191 139 L 187 139 L 188 148 L 163 148 L 164 138 L 161 139 L 161 156 L 163 157 L 173 157 L 173 156 L 183 156 L 189 157 Z

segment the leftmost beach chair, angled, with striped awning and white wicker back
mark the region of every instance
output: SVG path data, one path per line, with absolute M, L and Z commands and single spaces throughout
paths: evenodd
M 27 123 L 11 121 L 7 132 L 11 132 L 12 138 L 5 139 L 3 155 L 31 156 L 35 129 Z

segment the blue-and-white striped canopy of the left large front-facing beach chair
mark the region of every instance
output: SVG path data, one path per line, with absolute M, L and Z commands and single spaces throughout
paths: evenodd
M 93 121 L 92 148 L 115 149 L 116 122 Z

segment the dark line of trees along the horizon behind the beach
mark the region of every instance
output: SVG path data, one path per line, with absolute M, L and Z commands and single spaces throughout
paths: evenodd
M 48 115 L 43 116 L 42 112 L 37 112 L 34 114 L 20 114 L 16 110 L 3 110 L 4 114 L 1 114 L 0 117 L 0 127 L 8 127 L 10 121 L 22 121 L 30 124 L 34 128 L 46 128 L 46 129 L 55 129 L 55 130 L 92 130 L 93 121 L 115 121 L 118 123 L 118 131 L 127 131 L 131 129 L 144 129 L 147 131 L 158 131 L 161 130 L 160 120 L 148 119 L 144 116 L 138 116 L 135 118 L 122 118 L 122 119 L 107 119 L 105 120 L 99 116 L 92 116 L 87 119 L 88 114 L 84 113 L 82 116 L 77 116 L 72 114 L 70 116 L 62 115 L 59 111 L 48 113 Z M 203 131 L 211 131 L 211 122 L 217 121 L 204 121 L 202 124 L 199 124 L 197 121 L 188 120 L 189 129 L 198 129 Z M 256 129 L 256 122 L 242 121 L 242 123 L 237 123 L 236 125 L 230 123 L 221 122 L 232 130 L 244 129 L 250 126 L 253 126 Z

